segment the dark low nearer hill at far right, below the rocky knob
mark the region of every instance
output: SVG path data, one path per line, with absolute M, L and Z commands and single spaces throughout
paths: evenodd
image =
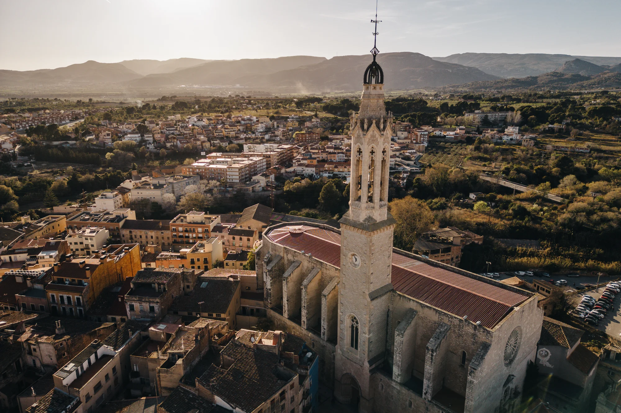
M 550 72 L 526 78 L 500 79 L 455 85 L 468 91 L 510 91 L 548 89 L 591 89 L 594 87 L 621 87 L 621 73 L 605 71 L 594 76 L 579 73 Z

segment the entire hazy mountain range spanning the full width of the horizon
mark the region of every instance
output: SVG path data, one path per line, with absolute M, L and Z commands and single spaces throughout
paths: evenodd
M 108 92 L 134 95 L 183 94 L 205 87 L 263 90 L 274 93 L 317 94 L 358 91 L 371 56 L 286 56 L 281 58 L 202 60 L 179 58 L 93 60 L 64 68 L 34 71 L 0 70 L 0 91 L 5 94 L 55 94 L 59 92 Z M 386 89 L 408 91 L 429 87 L 524 89 L 610 87 L 617 84 L 621 58 L 569 55 L 508 55 L 463 53 L 430 58 L 420 53 L 378 55 Z M 545 72 L 543 72 L 545 70 Z M 518 73 L 518 74 L 515 74 Z M 524 76 L 524 74 L 536 73 Z M 512 78 L 502 79 L 507 74 Z

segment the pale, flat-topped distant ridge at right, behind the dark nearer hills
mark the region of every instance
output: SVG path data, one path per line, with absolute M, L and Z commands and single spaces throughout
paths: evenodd
M 621 63 L 621 57 L 549 55 L 545 53 L 457 53 L 433 58 L 448 63 L 458 63 L 479 68 L 485 73 L 501 78 L 525 78 L 554 71 L 566 61 L 581 59 L 597 65 Z

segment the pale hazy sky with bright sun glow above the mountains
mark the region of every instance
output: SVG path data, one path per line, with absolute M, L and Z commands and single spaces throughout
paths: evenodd
M 375 0 L 0 0 L 0 69 L 362 55 Z M 378 48 L 621 56 L 620 0 L 380 0 Z

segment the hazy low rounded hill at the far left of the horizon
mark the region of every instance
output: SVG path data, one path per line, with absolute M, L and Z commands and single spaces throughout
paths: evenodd
M 99 63 L 89 60 L 64 68 L 30 71 L 0 70 L 0 87 L 83 87 L 130 81 L 142 76 L 120 63 Z

